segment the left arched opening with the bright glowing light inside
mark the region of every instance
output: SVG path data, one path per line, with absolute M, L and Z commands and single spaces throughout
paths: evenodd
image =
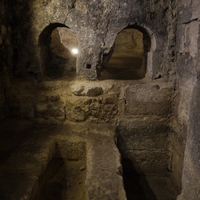
M 50 24 L 39 37 L 41 65 L 50 79 L 76 76 L 78 40 L 76 34 L 62 24 Z

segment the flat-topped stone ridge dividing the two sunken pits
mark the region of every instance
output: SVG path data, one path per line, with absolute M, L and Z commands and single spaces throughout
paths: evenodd
M 88 198 L 91 200 L 126 200 L 121 156 L 114 138 L 111 139 L 108 135 L 106 137 L 93 135 L 92 138 L 94 139 L 88 148 L 87 161 L 90 172 L 86 182 Z

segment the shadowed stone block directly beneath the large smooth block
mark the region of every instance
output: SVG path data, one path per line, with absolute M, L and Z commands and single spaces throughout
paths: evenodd
M 169 127 L 150 118 L 121 119 L 118 143 L 126 150 L 166 151 L 169 147 Z

